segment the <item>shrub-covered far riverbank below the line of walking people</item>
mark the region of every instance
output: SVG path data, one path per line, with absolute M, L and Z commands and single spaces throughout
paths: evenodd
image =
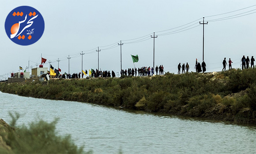
M 256 69 L 216 74 L 54 80 L 0 84 L 0 91 L 43 99 L 256 124 Z

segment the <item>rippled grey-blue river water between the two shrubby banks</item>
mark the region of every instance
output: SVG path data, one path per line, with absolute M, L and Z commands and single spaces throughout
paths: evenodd
M 0 92 L 0 118 L 19 112 L 18 125 L 60 118 L 60 135 L 94 154 L 255 154 L 256 126 L 157 115 Z

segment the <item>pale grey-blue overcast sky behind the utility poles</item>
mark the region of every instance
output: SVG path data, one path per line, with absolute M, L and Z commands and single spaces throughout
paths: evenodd
M 13 43 L 4 29 L 9 12 L 23 5 L 37 9 L 45 21 L 41 39 L 28 46 Z M 224 57 L 233 60 L 234 68 L 241 68 L 242 56 L 255 54 L 254 5 L 255 0 L 0 0 L 0 75 L 18 72 L 19 66 L 26 68 L 29 60 L 36 67 L 41 54 L 48 68 L 49 60 L 57 68 L 59 58 L 61 73 L 68 72 L 70 55 L 70 73 L 79 73 L 82 51 L 83 70 L 96 70 L 98 47 L 99 68 L 120 72 L 120 40 L 123 69 L 134 67 L 131 55 L 139 56 L 136 67 L 152 67 L 154 32 L 158 35 L 155 66 L 177 73 L 179 62 L 188 62 L 189 71 L 195 72 L 196 58 L 203 61 L 203 25 L 199 24 L 203 17 L 209 21 L 204 26 L 207 72 L 221 71 Z

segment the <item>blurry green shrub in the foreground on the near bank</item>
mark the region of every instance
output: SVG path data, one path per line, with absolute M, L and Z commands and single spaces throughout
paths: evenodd
M 11 115 L 14 127 L 19 118 Z M 78 148 L 70 135 L 59 136 L 56 132 L 57 119 L 51 123 L 39 120 L 31 122 L 29 126 L 22 125 L 9 133 L 5 142 L 17 154 L 84 154 L 83 147 Z M 91 151 L 87 152 L 91 153 Z

